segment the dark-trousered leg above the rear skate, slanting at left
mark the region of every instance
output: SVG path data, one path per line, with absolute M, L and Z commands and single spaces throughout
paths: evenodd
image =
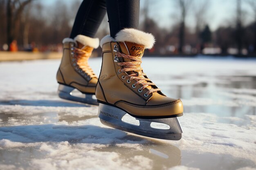
M 85 35 L 94 38 L 106 14 L 106 0 L 83 0 L 76 14 L 70 38 Z

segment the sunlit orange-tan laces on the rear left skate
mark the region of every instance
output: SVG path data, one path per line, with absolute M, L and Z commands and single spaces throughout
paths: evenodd
M 90 78 L 93 78 L 97 77 L 97 75 L 95 75 L 92 68 L 88 64 L 88 60 L 91 54 L 92 52 L 84 51 L 76 47 L 74 48 L 74 57 L 76 58 L 76 64 L 84 73 L 90 76 Z

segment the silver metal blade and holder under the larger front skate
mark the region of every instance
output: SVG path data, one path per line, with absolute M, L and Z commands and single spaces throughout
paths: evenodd
M 126 113 L 124 110 L 121 110 L 115 106 L 109 106 L 102 103 L 99 104 L 98 117 L 100 118 L 101 123 L 105 124 L 106 126 L 135 133 L 137 135 L 158 139 L 180 140 L 182 137 L 182 129 L 177 117 L 162 119 L 135 118 L 137 119 L 135 121 L 139 121 L 139 124 L 132 124 L 129 123 L 132 121 L 125 121 L 125 119 L 127 120 L 126 116 L 130 119 L 133 118 L 130 115 L 128 116 L 128 113 Z M 160 126 L 156 127 L 154 124 L 160 124 Z M 162 124 L 168 126 L 168 128 L 163 128 Z

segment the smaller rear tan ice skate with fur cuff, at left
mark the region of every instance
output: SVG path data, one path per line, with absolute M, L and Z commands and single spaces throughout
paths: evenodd
M 97 100 L 93 99 L 98 78 L 88 65 L 92 50 L 98 46 L 98 38 L 84 35 L 77 35 L 74 40 L 71 38 L 63 40 L 63 57 L 57 72 L 59 97 L 99 105 Z M 83 94 L 82 97 L 74 95 L 75 89 Z

